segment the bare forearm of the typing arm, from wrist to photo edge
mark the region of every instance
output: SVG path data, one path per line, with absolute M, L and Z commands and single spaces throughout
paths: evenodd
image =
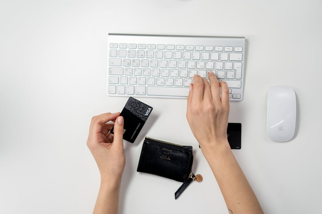
M 213 171 L 229 210 L 236 213 L 263 213 L 228 142 L 204 148 L 204 156 Z

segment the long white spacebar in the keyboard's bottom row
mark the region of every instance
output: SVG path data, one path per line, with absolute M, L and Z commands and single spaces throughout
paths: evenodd
M 147 95 L 188 97 L 189 88 L 147 87 Z

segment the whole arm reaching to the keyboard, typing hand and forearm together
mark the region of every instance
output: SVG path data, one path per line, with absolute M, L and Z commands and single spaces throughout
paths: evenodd
M 209 82 L 194 76 L 187 99 L 187 120 L 213 171 L 230 213 L 263 213 L 227 140 L 229 91 L 213 72 Z M 210 87 L 209 87 L 210 86 Z M 220 89 L 222 97 L 220 98 Z

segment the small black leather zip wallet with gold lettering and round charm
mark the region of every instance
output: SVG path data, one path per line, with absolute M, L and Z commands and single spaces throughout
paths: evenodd
M 175 193 L 175 199 L 193 181 L 201 181 L 202 176 L 192 174 L 194 154 L 184 146 L 146 137 L 140 155 L 137 172 L 159 175 L 184 182 Z

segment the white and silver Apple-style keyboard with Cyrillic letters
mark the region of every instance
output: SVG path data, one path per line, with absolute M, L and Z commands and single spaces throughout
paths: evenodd
M 213 71 L 242 100 L 244 37 L 109 34 L 109 96 L 187 98 L 194 74 Z

